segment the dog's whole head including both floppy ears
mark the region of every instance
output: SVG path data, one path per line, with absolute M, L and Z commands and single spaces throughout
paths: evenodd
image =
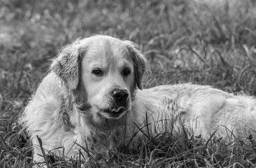
M 51 70 L 90 105 L 94 119 L 119 119 L 148 72 L 148 62 L 131 41 L 95 35 L 64 46 Z

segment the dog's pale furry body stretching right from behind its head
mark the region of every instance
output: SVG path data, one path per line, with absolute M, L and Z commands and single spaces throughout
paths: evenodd
M 256 100 L 210 86 L 175 84 L 140 91 L 137 95 L 148 113 L 154 135 L 163 131 L 176 136 L 247 137 L 256 129 Z M 164 120 L 167 119 L 167 120 Z M 163 121 L 161 121 L 163 120 Z M 161 121 L 161 122 L 156 122 Z M 185 129 L 183 129 L 183 127 Z

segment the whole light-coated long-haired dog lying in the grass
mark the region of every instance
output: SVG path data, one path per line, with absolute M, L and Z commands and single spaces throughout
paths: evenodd
M 84 147 L 96 156 L 145 132 L 207 140 L 256 130 L 255 97 L 190 83 L 142 90 L 149 74 L 145 55 L 128 40 L 93 35 L 64 46 L 21 118 L 35 162 L 44 162 L 42 148 L 76 158 Z

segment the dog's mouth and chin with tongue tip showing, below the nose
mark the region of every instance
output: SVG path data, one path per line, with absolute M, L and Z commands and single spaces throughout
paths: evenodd
M 99 110 L 99 113 L 106 119 L 119 119 L 127 113 L 127 110 L 124 107 L 117 107 L 112 110 Z

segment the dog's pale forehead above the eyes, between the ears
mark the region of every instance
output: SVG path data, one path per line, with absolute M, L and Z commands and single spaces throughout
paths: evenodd
M 133 60 L 125 43 L 118 39 L 111 39 L 93 43 L 84 55 L 83 64 L 89 69 L 97 65 L 132 68 Z

